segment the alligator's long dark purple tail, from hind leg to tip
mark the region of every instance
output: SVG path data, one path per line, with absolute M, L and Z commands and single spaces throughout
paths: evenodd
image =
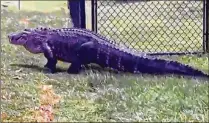
M 153 75 L 177 74 L 193 77 L 206 77 L 209 75 L 200 70 L 192 68 L 189 65 L 182 64 L 177 61 L 168 61 L 151 57 L 144 57 L 136 54 L 130 54 L 116 48 L 102 46 L 94 48 L 90 59 L 99 64 L 101 67 L 112 68 L 117 71 L 130 73 L 145 73 Z

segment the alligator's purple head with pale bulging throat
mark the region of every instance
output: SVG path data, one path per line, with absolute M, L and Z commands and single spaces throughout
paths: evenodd
M 47 29 L 25 29 L 8 35 L 9 42 L 14 45 L 24 46 L 31 53 L 43 53 L 42 44 L 47 39 Z

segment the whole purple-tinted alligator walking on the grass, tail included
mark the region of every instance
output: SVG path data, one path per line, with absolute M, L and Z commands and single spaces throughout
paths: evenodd
M 80 73 L 82 66 L 97 64 L 102 68 L 134 74 L 176 74 L 209 77 L 208 74 L 177 61 L 154 58 L 113 43 L 113 40 L 82 28 L 30 28 L 8 35 L 13 45 L 24 46 L 33 54 L 43 53 L 44 67 L 56 73 L 57 61 L 71 63 L 67 72 Z

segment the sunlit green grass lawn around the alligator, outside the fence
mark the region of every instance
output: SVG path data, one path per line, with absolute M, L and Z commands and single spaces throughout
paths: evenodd
M 52 85 L 61 99 L 53 105 L 54 122 L 66 121 L 197 121 L 208 119 L 208 81 L 151 75 L 115 74 L 84 70 L 49 74 L 42 54 L 33 55 L 8 43 L 6 35 L 27 27 L 67 27 L 66 13 L 2 11 L 1 116 L 2 121 L 35 121 L 41 106 L 40 85 Z M 208 73 L 208 54 L 164 57 L 189 64 Z M 93 88 L 90 86 L 93 85 Z M 46 92 L 45 92 L 46 93 Z

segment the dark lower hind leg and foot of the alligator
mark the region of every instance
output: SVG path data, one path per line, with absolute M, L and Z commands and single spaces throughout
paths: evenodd
M 74 62 L 70 65 L 67 72 L 69 74 L 78 74 L 81 71 L 81 64 L 80 62 Z

